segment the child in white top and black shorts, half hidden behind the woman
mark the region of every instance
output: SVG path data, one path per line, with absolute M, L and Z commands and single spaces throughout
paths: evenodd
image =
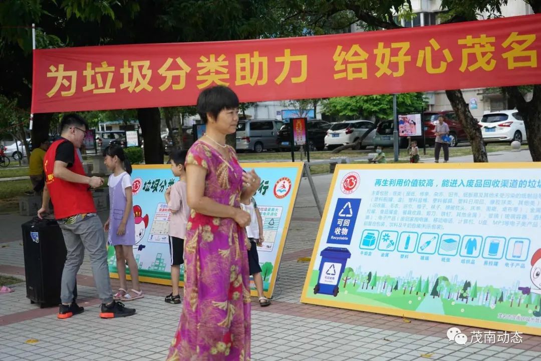
M 250 214 L 250 219 L 252 220 L 246 226 L 246 236 L 250 241 L 250 245 L 248 246 L 248 266 L 250 275 L 254 278 L 255 289 L 258 291 L 259 305 L 265 307 L 271 304 L 271 300 L 263 295 L 263 278 L 261 277 L 261 266 L 259 265 L 258 246 L 261 246 L 264 240 L 263 220 L 253 197 L 249 203 L 241 203 L 240 206 L 243 211 Z

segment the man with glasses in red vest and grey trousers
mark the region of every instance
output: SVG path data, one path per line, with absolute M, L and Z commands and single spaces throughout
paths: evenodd
M 49 199 L 52 200 L 55 218 L 68 250 L 62 272 L 62 304 L 58 318 L 69 318 L 84 311 L 75 303 L 73 293 L 85 249 L 90 254 L 94 282 L 102 300 L 100 317 L 134 315 L 135 309 L 128 309 L 121 302 L 113 300 L 105 234 L 90 192 L 91 188 L 101 186 L 103 179 L 85 175 L 79 151 L 88 129 L 87 122 L 76 114 L 69 114 L 62 118 L 60 127 L 62 138 L 50 145 L 43 159 L 45 188 L 42 207 L 37 212 L 39 218 L 49 213 Z

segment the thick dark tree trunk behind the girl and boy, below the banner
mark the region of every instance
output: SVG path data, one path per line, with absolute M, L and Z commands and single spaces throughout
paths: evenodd
M 160 135 L 160 110 L 158 108 L 137 109 L 139 125 L 144 140 L 144 162 L 163 164 L 163 143 Z

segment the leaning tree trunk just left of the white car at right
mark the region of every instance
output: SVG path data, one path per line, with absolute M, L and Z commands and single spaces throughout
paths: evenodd
M 462 91 L 460 89 L 446 90 L 445 93 L 447 94 L 449 102 L 451 102 L 451 106 L 457 115 L 458 121 L 462 125 L 462 128 L 466 132 L 466 136 L 470 141 L 473 153 L 473 162 L 488 162 L 489 158 L 486 155 L 481 128 L 479 128 L 477 119 L 472 116 L 470 108 L 464 100 Z

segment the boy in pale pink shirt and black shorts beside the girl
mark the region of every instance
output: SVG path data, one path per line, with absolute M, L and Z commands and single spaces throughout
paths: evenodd
M 165 302 L 179 304 L 180 265 L 184 264 L 184 238 L 186 225 L 190 215 L 188 197 L 186 195 L 186 150 L 172 149 L 169 153 L 171 171 L 179 182 L 171 185 L 165 193 L 167 206 L 171 212 L 169 220 L 169 251 L 171 253 L 171 284 L 173 292 L 166 296 Z

